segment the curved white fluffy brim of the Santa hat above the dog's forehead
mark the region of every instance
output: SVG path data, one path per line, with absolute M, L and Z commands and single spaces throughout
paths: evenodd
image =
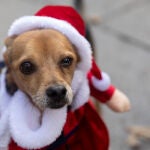
M 16 20 L 10 27 L 8 36 L 19 35 L 33 29 L 55 29 L 64 34 L 77 48 L 81 57 L 78 68 L 84 72 L 91 68 L 91 47 L 89 42 L 68 22 L 43 16 L 24 16 Z

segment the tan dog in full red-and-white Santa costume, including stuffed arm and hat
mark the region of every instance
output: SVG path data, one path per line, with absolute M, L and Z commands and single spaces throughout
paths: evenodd
M 100 72 L 84 35 L 82 18 L 67 6 L 46 6 L 12 24 L 0 76 L 0 149 L 108 150 L 89 97 L 117 112 L 130 103 Z

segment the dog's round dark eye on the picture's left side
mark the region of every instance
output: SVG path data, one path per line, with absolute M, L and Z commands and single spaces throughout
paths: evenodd
M 27 62 L 23 62 L 20 65 L 20 71 L 25 74 L 25 75 L 30 75 L 33 72 L 35 72 L 36 67 L 35 65 L 33 65 L 31 62 L 27 61 Z

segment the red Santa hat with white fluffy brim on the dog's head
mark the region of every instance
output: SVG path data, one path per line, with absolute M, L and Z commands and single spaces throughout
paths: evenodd
M 78 67 L 87 72 L 91 67 L 91 47 L 84 38 L 84 22 L 72 7 L 45 6 L 34 16 L 24 16 L 14 21 L 8 31 L 8 36 L 48 28 L 60 31 L 76 46 L 82 59 Z

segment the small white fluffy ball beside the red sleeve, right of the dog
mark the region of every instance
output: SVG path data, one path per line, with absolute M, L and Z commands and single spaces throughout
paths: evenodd
M 106 91 L 109 88 L 111 81 L 108 74 L 102 72 L 102 79 L 99 80 L 96 77 L 92 76 L 92 83 L 97 90 Z

